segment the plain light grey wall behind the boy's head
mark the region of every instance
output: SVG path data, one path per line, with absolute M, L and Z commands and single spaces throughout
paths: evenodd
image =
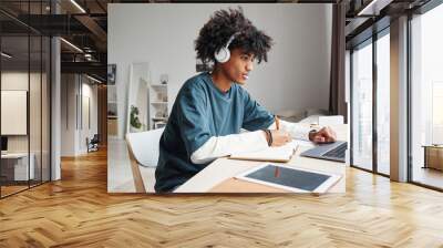
M 169 111 L 195 71 L 194 41 L 209 16 L 238 4 L 109 4 L 107 61 L 116 64 L 119 130 L 123 137 L 133 62 L 148 62 L 153 83 L 168 73 Z M 268 63 L 256 66 L 246 89 L 270 111 L 328 108 L 332 9 L 330 4 L 241 4 L 270 35 Z

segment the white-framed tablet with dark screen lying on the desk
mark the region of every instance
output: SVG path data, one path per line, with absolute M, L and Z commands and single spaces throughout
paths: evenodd
M 262 164 L 237 175 L 236 178 L 295 193 L 326 193 L 341 176 L 306 168 Z

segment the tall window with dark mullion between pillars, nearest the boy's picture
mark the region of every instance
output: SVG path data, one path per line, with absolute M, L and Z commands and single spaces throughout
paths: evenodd
M 351 165 L 389 176 L 389 27 L 357 45 L 351 54 Z

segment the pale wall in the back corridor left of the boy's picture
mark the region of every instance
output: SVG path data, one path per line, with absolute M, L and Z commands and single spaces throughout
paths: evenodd
M 86 137 L 97 133 L 97 90 L 79 74 L 62 74 L 61 81 L 61 156 L 76 156 L 86 153 Z M 90 99 L 91 128 L 81 123 L 83 96 Z

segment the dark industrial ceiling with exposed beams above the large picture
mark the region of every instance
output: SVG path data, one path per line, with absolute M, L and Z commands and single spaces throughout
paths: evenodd
M 372 0 L 374 1 L 374 0 Z M 359 16 L 371 0 L 251 0 L 229 2 L 310 2 L 310 3 L 346 3 L 347 41 L 369 29 L 385 16 L 395 16 L 408 9 L 418 8 L 429 0 L 377 0 L 374 13 Z M 3 37 L 3 51 L 16 53 L 17 60 L 27 60 L 27 35 L 60 35 L 62 72 L 87 73 L 101 71 L 105 79 L 107 54 L 107 4 L 109 3 L 150 3 L 150 2 L 217 2 L 183 0 L 1 0 L 0 28 Z M 218 1 L 219 2 L 219 1 Z M 372 10 L 371 10 L 372 11 Z M 377 12 L 377 13 L 375 13 Z M 56 13 L 56 14 L 55 14 Z M 66 42 L 65 42 L 66 41 Z M 32 43 L 32 42 L 31 42 Z M 74 46 L 70 45 L 73 44 Z M 33 44 L 31 44 L 32 46 Z M 80 49 L 80 50 L 79 50 Z M 38 48 L 30 50 L 30 58 L 40 53 Z

